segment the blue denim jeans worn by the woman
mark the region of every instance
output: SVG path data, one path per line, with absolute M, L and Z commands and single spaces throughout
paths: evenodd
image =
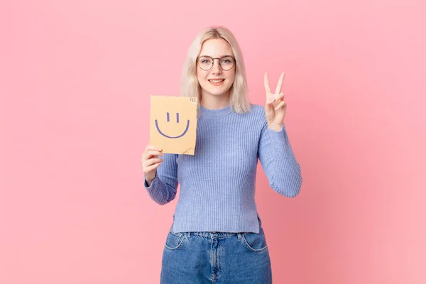
M 260 218 L 258 221 L 261 225 Z M 272 283 L 271 258 L 262 226 L 259 234 L 174 233 L 172 227 L 165 240 L 160 283 Z

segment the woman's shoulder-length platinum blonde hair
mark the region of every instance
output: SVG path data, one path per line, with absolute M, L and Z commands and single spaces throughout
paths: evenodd
M 187 53 L 185 64 L 183 65 L 180 95 L 183 97 L 197 97 L 198 103 L 201 101 L 201 86 L 197 79 L 197 57 L 204 41 L 212 38 L 223 38 L 231 45 L 236 60 L 235 78 L 231 86 L 231 96 L 229 97 L 229 106 L 239 114 L 251 110 L 246 82 L 246 68 L 244 59 L 239 47 L 239 43 L 231 31 L 223 26 L 211 26 L 201 31 L 197 37 L 192 40 Z

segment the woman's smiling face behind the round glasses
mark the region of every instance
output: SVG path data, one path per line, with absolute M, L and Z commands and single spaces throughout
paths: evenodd
M 204 41 L 202 44 L 198 58 L 202 58 L 203 56 L 209 56 L 210 58 L 223 58 L 222 67 L 224 67 L 224 69 L 228 69 L 231 63 L 224 57 L 231 56 L 234 58 L 234 53 L 232 52 L 231 45 L 229 45 L 226 40 L 223 38 L 212 38 Z M 202 97 L 228 96 L 230 88 L 234 83 L 236 68 L 235 62 L 230 70 L 223 70 L 219 66 L 219 59 L 213 60 L 213 66 L 209 70 L 203 70 L 207 69 L 205 67 L 205 64 L 208 63 L 207 60 L 203 61 L 203 68 L 200 67 L 199 62 L 200 60 L 197 62 L 197 78 L 201 86 Z

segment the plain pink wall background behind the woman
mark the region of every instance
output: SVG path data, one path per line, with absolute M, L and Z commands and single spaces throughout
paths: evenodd
M 159 283 L 176 200 L 143 189 L 150 94 L 204 27 L 251 102 L 287 75 L 300 195 L 256 201 L 274 283 L 426 283 L 425 1 L 1 1 L 0 283 Z

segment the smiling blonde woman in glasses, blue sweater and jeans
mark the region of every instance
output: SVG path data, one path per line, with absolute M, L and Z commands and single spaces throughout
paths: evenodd
M 234 35 L 210 27 L 192 42 L 181 95 L 198 97 L 195 155 L 147 146 L 142 158 L 145 187 L 155 202 L 173 200 L 180 184 L 161 283 L 272 283 L 254 200 L 258 159 L 280 195 L 295 197 L 302 185 L 284 126 L 283 77 L 272 93 L 265 74 L 265 107 L 250 104 Z

